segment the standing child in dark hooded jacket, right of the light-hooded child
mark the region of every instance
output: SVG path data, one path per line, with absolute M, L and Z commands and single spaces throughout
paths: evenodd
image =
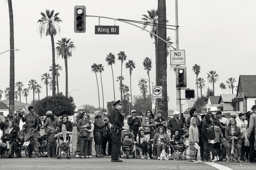
M 214 127 L 212 123 L 212 115 L 206 114 L 205 115 L 205 122 L 202 125 L 202 142 L 204 143 L 204 150 L 203 150 L 203 161 L 202 162 L 213 162 L 211 160 L 210 152 L 212 150 L 212 144 L 210 143 L 211 140 L 215 139 Z

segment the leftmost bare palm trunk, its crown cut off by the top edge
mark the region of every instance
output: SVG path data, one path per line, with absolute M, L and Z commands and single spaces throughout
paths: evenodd
M 14 91 L 15 91 L 15 57 L 14 57 L 14 22 L 13 22 L 13 11 L 12 11 L 12 0 L 8 1 L 8 8 L 9 8 L 9 26 L 10 26 L 10 95 L 9 95 L 9 111 L 14 113 Z

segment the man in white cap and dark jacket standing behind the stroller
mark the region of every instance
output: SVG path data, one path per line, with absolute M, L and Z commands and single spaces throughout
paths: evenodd
M 141 127 L 140 119 L 136 117 L 136 111 L 131 111 L 131 117 L 128 117 L 127 124 L 129 125 L 129 129 L 133 130 L 134 140 L 137 142 L 136 138 L 139 132 L 139 127 Z

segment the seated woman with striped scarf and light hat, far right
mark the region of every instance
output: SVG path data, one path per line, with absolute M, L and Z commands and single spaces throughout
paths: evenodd
M 227 150 L 227 162 L 230 161 L 230 155 L 231 155 L 231 144 L 232 140 L 234 139 L 234 147 L 237 149 L 238 153 L 238 162 L 241 163 L 241 145 L 238 142 L 239 139 L 241 139 L 242 133 L 240 131 L 240 128 L 236 126 L 236 119 L 230 118 L 228 127 L 225 129 L 225 147 Z

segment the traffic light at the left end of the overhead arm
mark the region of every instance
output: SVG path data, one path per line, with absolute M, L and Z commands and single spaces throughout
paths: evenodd
M 74 8 L 74 31 L 76 33 L 85 32 L 85 6 L 75 6 Z

